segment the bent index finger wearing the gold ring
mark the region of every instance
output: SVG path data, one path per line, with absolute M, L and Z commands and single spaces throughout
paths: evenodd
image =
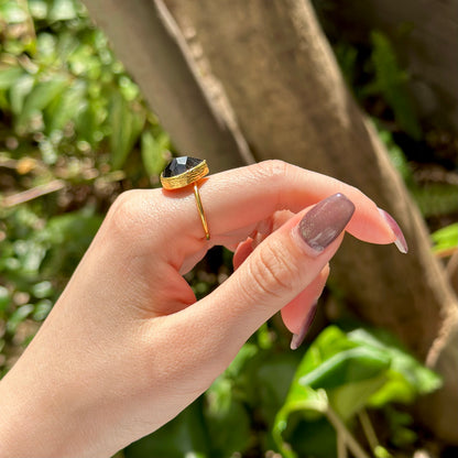
M 238 243 L 276 210 L 297 212 L 336 193 L 345 194 L 356 206 L 348 227 L 355 237 L 372 243 L 391 243 L 399 238 L 384 214 L 359 189 L 281 161 L 215 174 L 199 189 L 214 244 Z M 175 210 L 162 221 L 166 226 L 165 237 L 179 243 L 179 235 L 183 246 L 189 246 L 183 235 L 186 228 L 189 237 L 203 240 L 192 189 L 163 190 L 160 200 L 164 208 Z

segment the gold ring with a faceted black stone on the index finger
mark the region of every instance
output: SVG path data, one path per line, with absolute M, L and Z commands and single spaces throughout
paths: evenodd
M 174 157 L 161 174 L 161 183 L 164 189 L 179 189 L 194 184 L 194 195 L 196 197 L 197 210 L 199 211 L 201 226 L 204 227 L 205 238 L 210 240 L 207 218 L 205 217 L 201 205 L 198 181 L 208 175 L 207 162 L 203 159 L 189 156 Z

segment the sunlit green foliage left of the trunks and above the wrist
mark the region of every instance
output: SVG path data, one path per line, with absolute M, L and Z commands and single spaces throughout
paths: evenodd
M 79 2 L 1 0 L 0 45 L 3 373 L 107 207 L 126 187 L 155 185 L 171 145 Z

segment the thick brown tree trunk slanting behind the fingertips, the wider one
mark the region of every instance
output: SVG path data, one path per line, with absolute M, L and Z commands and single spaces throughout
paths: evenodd
M 193 40 L 225 87 L 257 160 L 280 157 L 351 183 L 401 223 L 408 255 L 394 247 L 347 240 L 332 263 L 334 279 L 359 316 L 394 331 L 419 358 L 434 348 L 434 359 L 443 361 L 439 348 L 452 335 L 445 330 L 457 326 L 456 297 L 432 255 L 423 218 L 349 96 L 309 3 L 167 4 L 182 26 L 195 28 Z M 446 378 L 436 394 L 440 411 L 428 412 L 425 419 L 441 437 L 458 443 L 458 360 L 450 358 L 447 370 L 440 369 Z

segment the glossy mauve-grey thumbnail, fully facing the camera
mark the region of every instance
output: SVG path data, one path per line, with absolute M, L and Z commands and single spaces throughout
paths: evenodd
M 335 194 L 304 216 L 298 223 L 298 233 L 317 255 L 339 237 L 353 212 L 353 203 L 344 194 Z

